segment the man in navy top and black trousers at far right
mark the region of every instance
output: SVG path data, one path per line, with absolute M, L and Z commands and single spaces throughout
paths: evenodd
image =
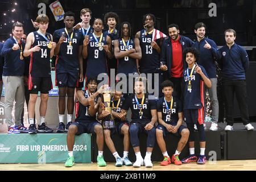
M 233 130 L 233 105 L 234 93 L 240 107 L 241 118 L 246 130 L 253 130 L 254 127 L 249 121 L 249 111 L 247 106 L 245 72 L 249 68 L 249 58 L 244 48 L 238 46 L 236 31 L 228 29 L 225 31 L 226 45 L 220 49 L 222 54 L 222 77 L 225 94 L 226 121 L 225 130 Z

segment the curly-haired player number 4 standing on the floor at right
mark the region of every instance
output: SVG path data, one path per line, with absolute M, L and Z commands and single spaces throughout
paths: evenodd
M 199 52 L 194 48 L 187 48 L 183 52 L 188 68 L 184 70 L 184 120 L 187 123 L 189 134 L 189 156 L 182 163 L 197 162 L 205 164 L 205 131 L 204 131 L 204 84 L 210 88 L 210 82 L 204 67 L 197 65 Z M 197 126 L 200 137 L 199 159 L 195 155 L 194 125 Z

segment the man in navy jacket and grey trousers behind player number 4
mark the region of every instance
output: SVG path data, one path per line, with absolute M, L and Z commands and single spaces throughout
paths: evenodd
M 206 88 L 209 93 L 210 102 L 212 104 L 212 126 L 210 130 L 218 130 L 218 98 L 217 98 L 217 69 L 215 59 L 220 59 L 221 55 L 218 51 L 216 43 L 205 37 L 206 26 L 204 23 L 196 23 L 195 34 L 197 41 L 193 44 L 193 48 L 196 48 L 200 52 L 199 65 L 202 65 L 207 71 L 207 74 L 212 82 L 211 88 Z

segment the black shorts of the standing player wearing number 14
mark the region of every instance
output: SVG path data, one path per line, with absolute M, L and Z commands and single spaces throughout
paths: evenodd
M 52 89 L 52 78 L 51 77 L 32 77 L 28 81 L 28 89 L 31 94 L 48 94 L 49 90 Z

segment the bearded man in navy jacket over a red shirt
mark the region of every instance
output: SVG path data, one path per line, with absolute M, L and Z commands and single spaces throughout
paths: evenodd
M 180 35 L 177 24 L 170 24 L 168 33 L 169 38 L 164 40 L 162 46 L 160 68 L 162 71 L 167 71 L 165 72 L 166 79 L 174 83 L 174 94 L 181 100 L 183 69 L 188 67 L 182 52 L 185 48 L 191 47 L 193 42 L 186 36 Z

